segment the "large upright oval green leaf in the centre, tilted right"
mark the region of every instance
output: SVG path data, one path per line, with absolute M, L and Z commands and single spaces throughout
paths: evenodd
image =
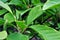
M 41 14 L 42 14 L 42 10 L 41 10 L 40 5 L 32 8 L 29 15 L 28 15 L 28 17 L 27 17 L 27 25 L 29 25 L 31 22 L 33 22 Z

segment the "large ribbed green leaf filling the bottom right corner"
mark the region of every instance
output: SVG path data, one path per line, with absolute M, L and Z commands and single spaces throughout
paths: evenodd
M 47 25 L 33 25 L 30 28 L 36 31 L 44 40 L 60 40 L 60 32 Z

